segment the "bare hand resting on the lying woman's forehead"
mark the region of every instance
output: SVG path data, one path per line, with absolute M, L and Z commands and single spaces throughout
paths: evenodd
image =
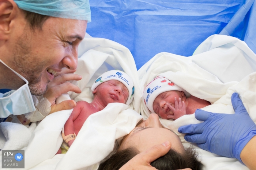
M 166 141 L 163 144 L 155 145 L 150 149 L 136 155 L 130 161 L 125 163 L 119 170 L 156 170 L 150 163 L 155 159 L 167 154 L 172 144 Z

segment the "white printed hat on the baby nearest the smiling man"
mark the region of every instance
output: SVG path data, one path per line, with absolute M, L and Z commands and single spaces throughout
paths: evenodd
M 134 85 L 133 85 L 132 79 L 123 71 L 110 70 L 110 71 L 104 72 L 93 83 L 93 86 L 91 86 L 91 91 L 94 91 L 95 88 L 99 86 L 99 84 L 109 81 L 109 80 L 117 80 L 117 81 L 123 83 L 127 87 L 128 91 L 129 91 L 129 96 L 128 96 L 128 99 L 125 104 L 129 105 L 133 99 Z

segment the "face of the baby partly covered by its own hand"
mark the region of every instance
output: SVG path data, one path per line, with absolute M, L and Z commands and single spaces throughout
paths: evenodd
M 173 115 L 173 112 L 170 110 L 169 107 L 167 107 L 166 103 L 169 103 L 170 105 L 174 106 L 174 98 L 181 98 L 184 95 L 184 92 L 180 91 L 166 91 L 157 96 L 155 98 L 153 103 L 153 110 L 158 116 L 160 116 L 163 119 L 169 119 L 167 118 L 168 115 Z

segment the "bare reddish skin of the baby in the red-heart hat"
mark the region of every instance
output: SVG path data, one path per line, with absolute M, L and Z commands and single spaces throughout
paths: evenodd
M 187 98 L 183 91 L 166 91 L 157 96 L 153 109 L 163 119 L 178 119 L 186 114 L 195 113 L 196 109 L 211 103 L 195 96 Z

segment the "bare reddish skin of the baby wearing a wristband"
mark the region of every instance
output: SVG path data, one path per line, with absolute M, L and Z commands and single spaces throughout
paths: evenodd
M 69 116 L 64 126 L 65 135 L 78 134 L 85 120 L 93 113 L 103 110 L 109 103 L 126 103 L 129 91 L 127 87 L 117 81 L 109 80 L 101 83 L 93 91 L 94 99 L 91 103 L 85 101 L 77 102 L 76 107 Z M 71 146 L 74 139 L 68 142 Z

